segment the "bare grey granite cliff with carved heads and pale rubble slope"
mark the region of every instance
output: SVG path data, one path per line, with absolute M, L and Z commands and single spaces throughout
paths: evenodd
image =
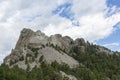
M 74 68 L 80 63 L 72 56 L 77 53 L 84 54 L 89 46 L 90 43 L 85 42 L 83 38 L 73 40 L 68 36 L 62 37 L 60 34 L 48 37 L 41 31 L 34 32 L 24 28 L 15 49 L 4 59 L 4 63 L 10 67 L 18 65 L 22 69 L 27 69 L 29 65 L 32 69 L 35 66 L 39 67 L 42 61 L 48 64 L 57 61 Z M 113 54 L 113 52 L 100 46 L 97 46 L 96 51 L 108 55 Z

